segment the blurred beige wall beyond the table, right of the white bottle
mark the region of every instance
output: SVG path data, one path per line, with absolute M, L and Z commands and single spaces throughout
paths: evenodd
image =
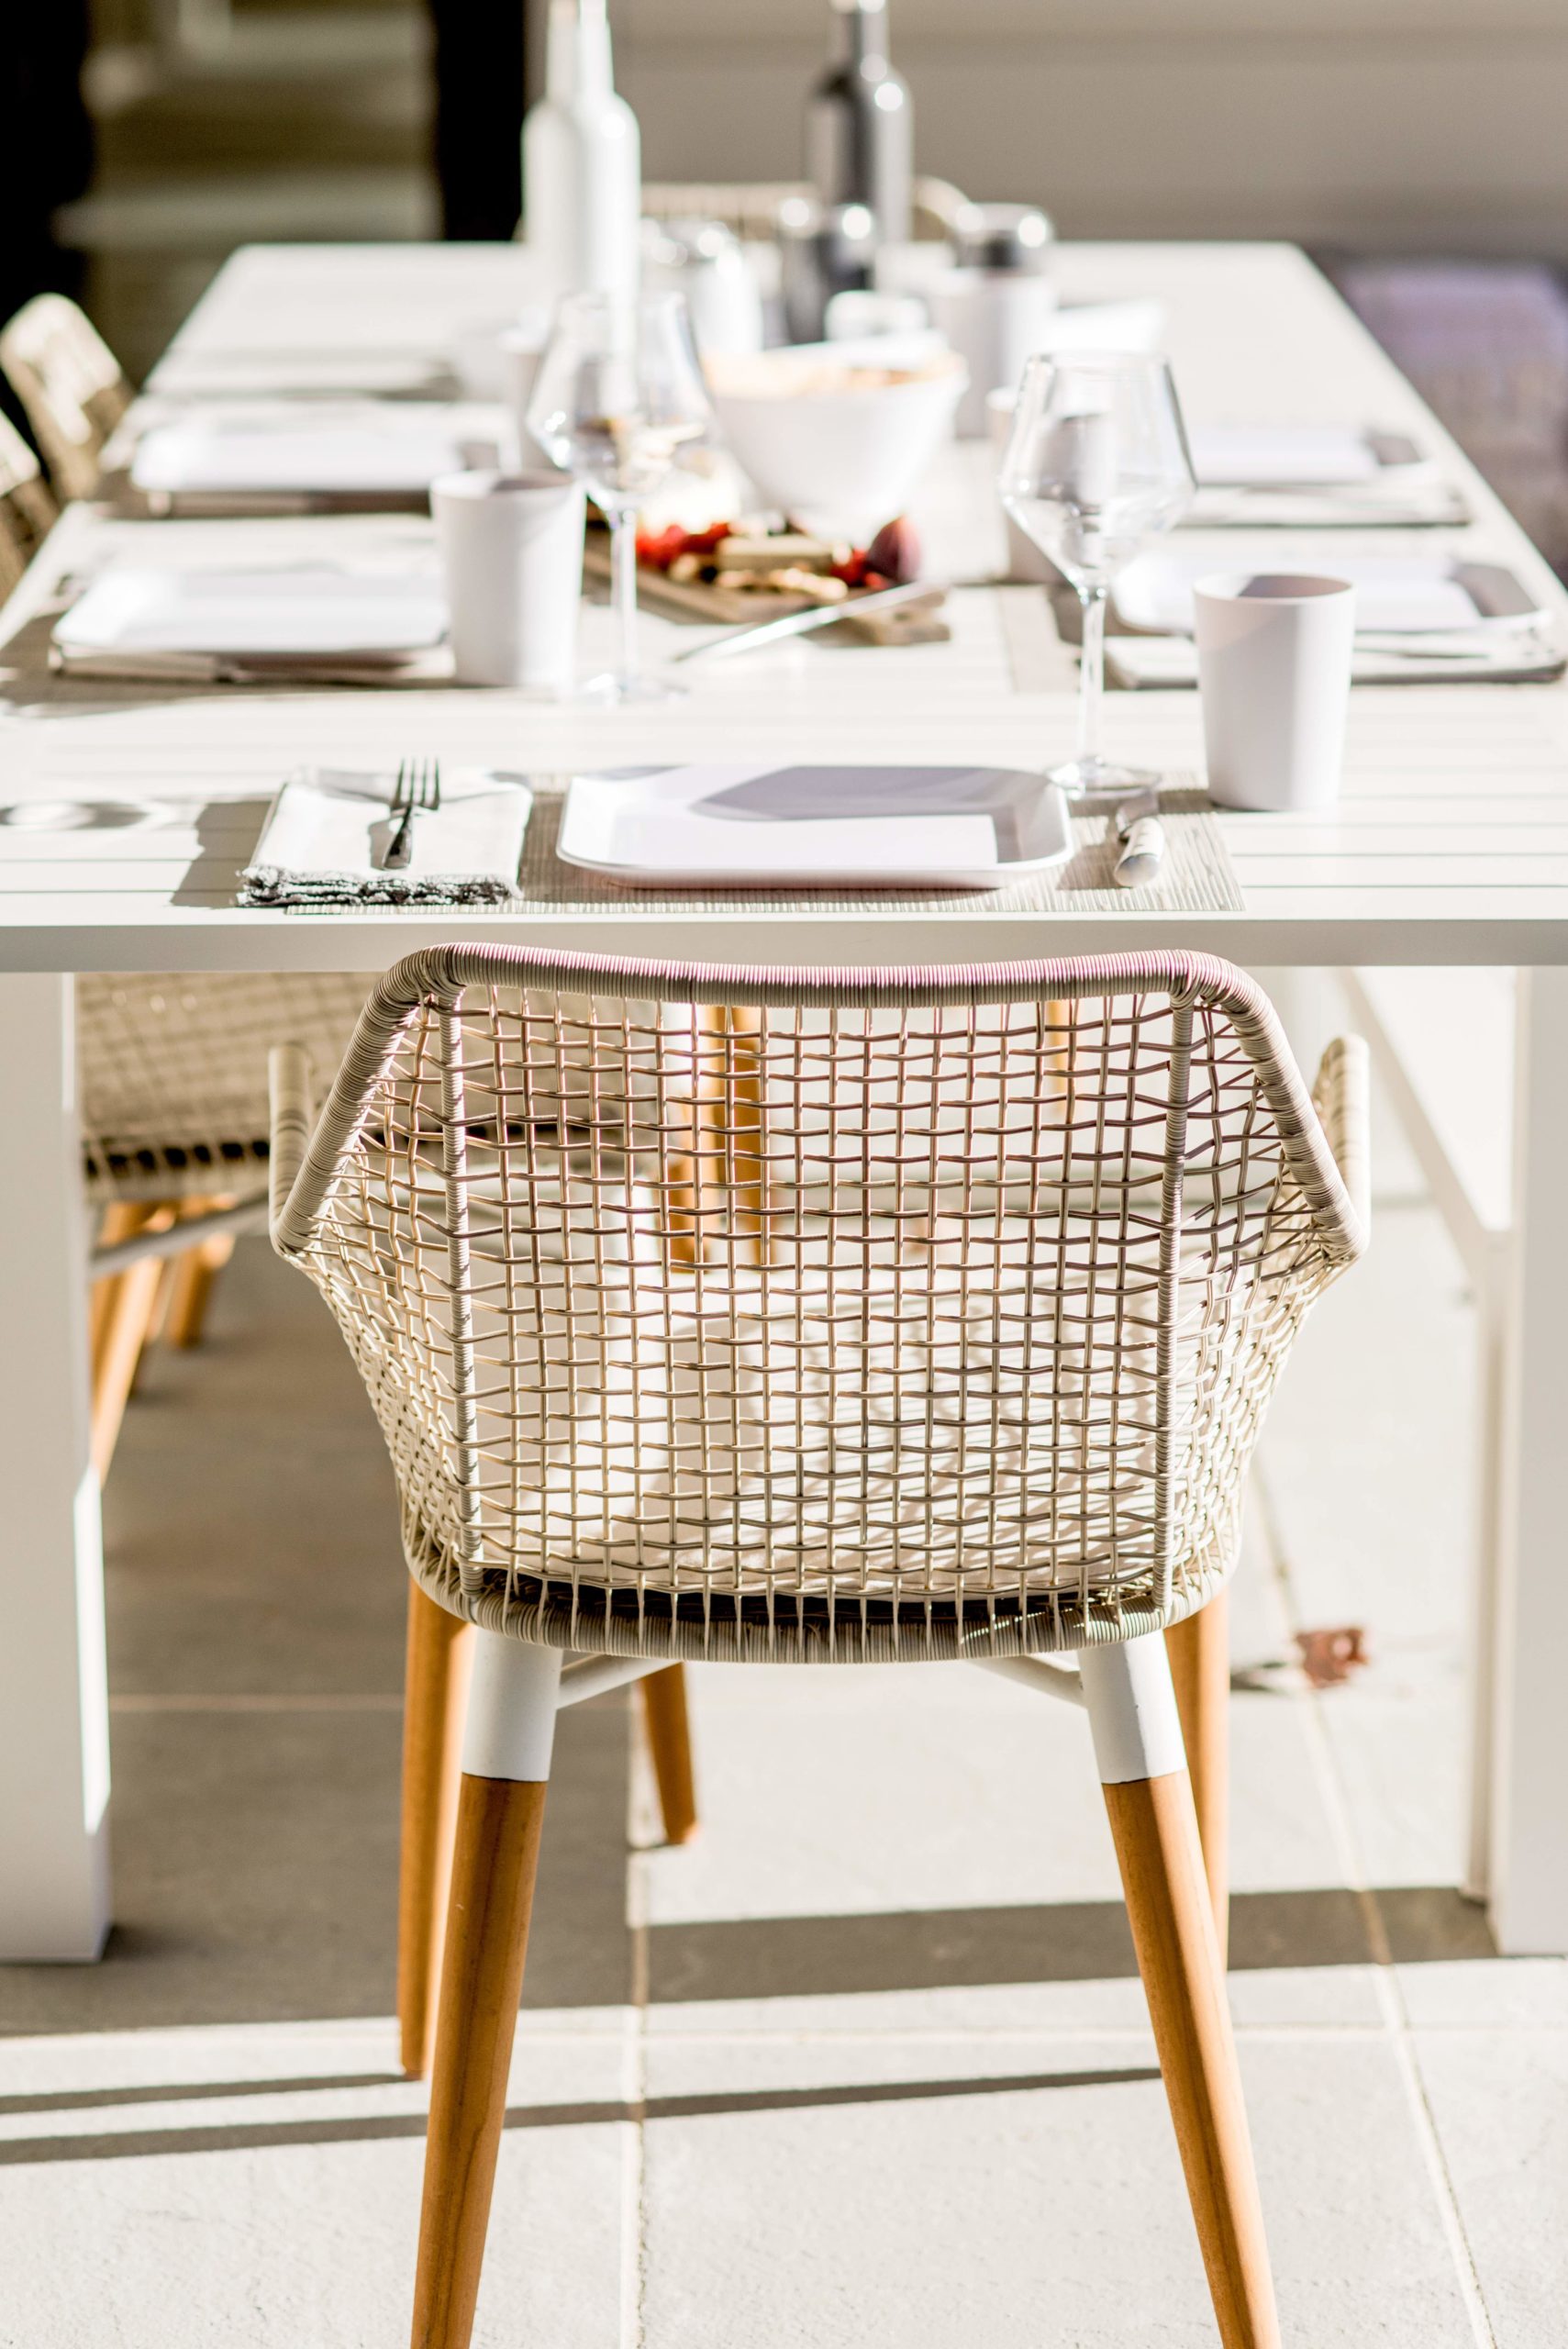
M 920 167 L 1066 235 L 1568 258 L 1566 0 L 890 0 Z M 610 0 L 655 179 L 800 167 L 826 0 Z

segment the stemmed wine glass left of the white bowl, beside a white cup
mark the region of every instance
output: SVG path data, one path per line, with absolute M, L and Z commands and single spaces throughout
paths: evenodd
M 620 613 L 620 667 L 582 693 L 657 702 L 681 688 L 636 665 L 636 512 L 683 442 L 702 439 L 711 409 L 681 294 L 641 301 L 570 294 L 540 357 L 528 430 L 556 465 L 587 484 L 610 524 L 610 601 Z

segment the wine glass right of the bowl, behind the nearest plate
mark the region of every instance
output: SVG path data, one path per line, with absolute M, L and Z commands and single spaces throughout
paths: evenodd
M 1002 505 L 1077 587 L 1077 756 L 1049 773 L 1070 796 L 1150 789 L 1160 778 L 1101 756 L 1110 583 L 1185 512 L 1195 482 L 1176 385 L 1145 352 L 1038 355 L 1023 369 Z

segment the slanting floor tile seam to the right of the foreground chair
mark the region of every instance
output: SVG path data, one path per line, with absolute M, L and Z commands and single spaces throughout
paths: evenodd
M 1268 1468 L 1261 1456 L 1253 1463 L 1253 1487 L 1258 1494 L 1263 1543 L 1286 1611 L 1286 1623 L 1291 1630 L 1300 1630 L 1300 1609 L 1296 1604 L 1289 1548 L 1268 1485 Z M 1448 2161 L 1444 2156 L 1444 2145 L 1437 2131 L 1437 2116 L 1427 2100 L 1425 2079 L 1420 2074 L 1420 2065 L 1415 2058 L 1399 1968 L 1394 1966 L 1394 1954 L 1390 1950 L 1383 1912 L 1371 1891 L 1371 1875 L 1366 1867 L 1366 1858 L 1361 1853 L 1361 1844 L 1354 1832 L 1354 1820 L 1350 1813 L 1340 1764 L 1333 1750 L 1333 1741 L 1329 1736 L 1329 1724 L 1324 1719 L 1322 1691 L 1312 1687 L 1298 1689 L 1291 1694 L 1291 1703 L 1300 1708 L 1310 1766 L 1317 1778 L 1319 1799 L 1329 1816 L 1329 1832 L 1333 1835 L 1340 1870 L 1345 1872 L 1345 1882 L 1350 1884 L 1350 1889 L 1357 1893 L 1366 1919 L 1366 1933 L 1371 1945 L 1371 1978 L 1378 1994 L 1378 2004 L 1383 2006 L 1390 2053 L 1399 2072 L 1406 2109 L 1411 2114 L 1415 2142 L 1420 2147 L 1422 2168 L 1432 2187 L 1437 2220 L 1444 2232 L 1444 2241 L 1448 2246 L 1453 2281 L 1458 2286 L 1465 2307 L 1469 2335 L 1474 2349 L 1498 2349 L 1498 2333 L 1493 2328 L 1491 2311 L 1486 2307 L 1486 2293 L 1481 2288 L 1476 2255 L 1469 2243 L 1469 2234 L 1465 2229 L 1458 2192 L 1448 2173 Z

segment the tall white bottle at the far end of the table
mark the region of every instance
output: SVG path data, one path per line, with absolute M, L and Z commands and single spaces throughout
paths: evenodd
M 540 291 L 636 291 L 643 160 L 615 96 L 606 0 L 552 0 L 545 96 L 523 122 L 523 235 Z

